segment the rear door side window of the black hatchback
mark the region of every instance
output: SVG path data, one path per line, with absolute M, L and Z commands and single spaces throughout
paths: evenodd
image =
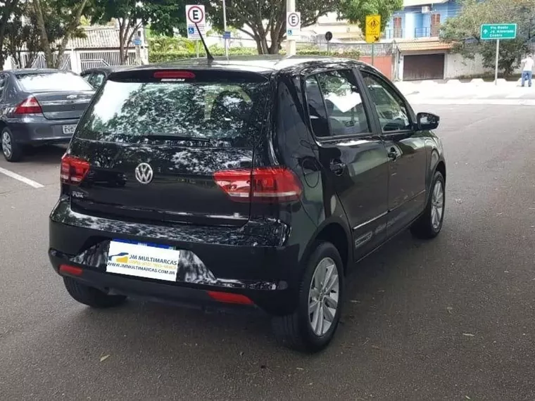
M 306 87 L 311 120 L 315 118 L 312 113 L 315 104 L 310 102 L 318 103 L 319 93 L 332 136 L 370 132 L 363 100 L 352 70 L 320 72 L 308 77 Z M 314 127 L 314 121 L 312 124 Z M 316 129 L 314 130 L 316 133 Z

